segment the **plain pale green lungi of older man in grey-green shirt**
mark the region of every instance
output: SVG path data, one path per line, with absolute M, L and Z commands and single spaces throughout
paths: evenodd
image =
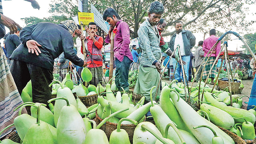
M 147 101 L 150 101 L 150 90 L 153 86 L 157 87 L 160 80 L 160 74 L 156 68 L 144 68 L 140 65 L 139 76 L 134 88 L 134 93 L 145 96 Z M 160 95 L 160 88 L 158 88 L 157 95 Z M 153 100 L 156 98 L 156 88 L 152 91 Z

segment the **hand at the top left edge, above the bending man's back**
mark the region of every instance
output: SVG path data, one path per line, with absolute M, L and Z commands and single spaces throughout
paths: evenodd
M 4 16 L 3 14 L 1 14 L 1 21 L 0 21 L 0 23 L 2 23 L 4 26 L 6 26 L 7 28 L 10 29 L 10 34 L 17 33 L 18 28 L 22 29 L 19 24 L 14 22 L 12 19 Z

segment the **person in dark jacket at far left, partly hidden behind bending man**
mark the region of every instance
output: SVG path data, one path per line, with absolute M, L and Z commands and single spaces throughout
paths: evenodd
M 14 32 L 14 34 L 7 33 L 4 36 L 5 39 L 5 48 L 7 51 L 7 58 L 10 63 L 10 56 L 12 55 L 12 52 L 20 45 L 20 28 L 18 28 L 17 32 Z

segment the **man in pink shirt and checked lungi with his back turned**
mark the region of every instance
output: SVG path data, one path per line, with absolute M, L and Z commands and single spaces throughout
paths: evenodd
M 210 30 L 210 37 L 206 38 L 203 43 L 203 51 L 204 51 L 204 57 L 210 57 L 209 60 L 206 63 L 207 58 L 204 60 L 204 64 L 206 63 L 206 66 L 204 68 L 203 72 L 203 80 L 207 78 L 208 75 L 209 78 L 212 79 L 211 84 L 214 84 L 213 80 L 215 78 L 215 73 L 216 73 L 216 63 L 214 63 L 215 59 L 218 59 L 218 54 L 220 53 L 220 42 L 217 44 L 217 46 L 212 50 L 212 54 L 210 53 L 207 55 L 207 53 L 211 50 L 212 46 L 216 43 L 216 41 L 219 39 L 216 35 L 216 30 L 211 29 Z M 214 65 L 212 71 L 210 71 L 212 65 Z

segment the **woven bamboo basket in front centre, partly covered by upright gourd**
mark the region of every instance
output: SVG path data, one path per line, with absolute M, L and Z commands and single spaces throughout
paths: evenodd
M 97 114 L 97 110 L 96 110 L 96 118 L 95 118 L 95 122 L 96 124 L 100 124 L 100 122 L 102 121 L 103 119 L 101 119 L 98 114 Z M 145 121 L 145 120 L 144 120 Z M 124 129 L 127 133 L 128 133 L 128 136 L 129 136 L 129 140 L 130 142 L 132 143 L 132 138 L 133 138 L 133 133 L 134 133 L 134 130 L 135 130 L 135 127 L 136 125 L 135 124 L 121 124 L 121 129 Z M 110 134 L 111 132 L 113 132 L 114 130 L 117 129 L 117 124 L 116 123 L 110 123 L 110 122 L 106 122 L 105 124 L 103 124 L 100 129 L 102 131 L 104 131 L 108 137 L 108 140 L 109 140 L 109 137 L 110 137 Z

